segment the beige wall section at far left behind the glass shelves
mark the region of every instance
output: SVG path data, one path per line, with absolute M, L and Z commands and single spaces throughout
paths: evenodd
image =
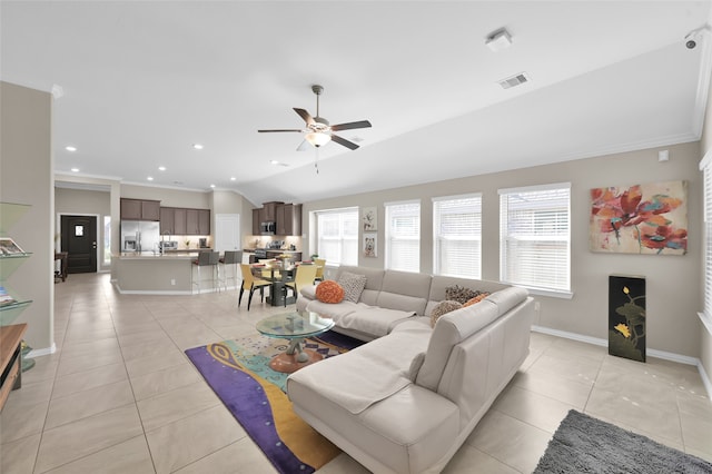
M 55 178 L 52 96 L 0 81 L 0 200 L 31 205 L 9 236 L 32 256 L 10 277 L 32 299 L 14 323 L 28 323 L 24 339 L 34 349 L 55 347 Z

